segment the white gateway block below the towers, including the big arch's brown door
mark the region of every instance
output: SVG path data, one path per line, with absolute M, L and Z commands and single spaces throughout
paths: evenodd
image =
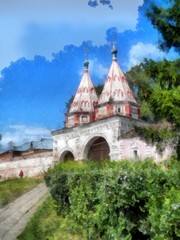
M 121 136 L 132 129 L 134 124 L 131 118 L 112 116 L 53 131 L 54 160 L 65 160 L 67 152 L 71 152 L 75 160 L 122 159 L 125 146 L 122 145 Z

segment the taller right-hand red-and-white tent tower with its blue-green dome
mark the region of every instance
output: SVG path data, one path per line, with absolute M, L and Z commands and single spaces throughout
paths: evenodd
M 139 118 L 139 105 L 117 62 L 117 49 L 114 45 L 112 49 L 112 64 L 95 112 L 96 120 L 113 115 Z

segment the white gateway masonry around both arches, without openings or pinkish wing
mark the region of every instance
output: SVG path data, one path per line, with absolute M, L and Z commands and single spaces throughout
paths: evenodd
M 87 159 L 88 150 L 98 137 L 103 137 L 107 141 L 110 148 L 110 159 L 122 159 L 119 140 L 122 134 L 133 129 L 135 121 L 126 117 L 114 116 L 91 124 L 55 131 L 53 133 L 54 160 L 63 160 L 67 151 L 74 155 L 75 160 Z

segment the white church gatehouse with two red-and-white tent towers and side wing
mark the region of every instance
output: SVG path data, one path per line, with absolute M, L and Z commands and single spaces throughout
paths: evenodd
M 155 146 L 134 134 L 135 125 L 146 123 L 140 119 L 140 106 L 117 62 L 116 48 L 112 49 L 112 64 L 99 97 L 88 65 L 85 59 L 65 127 L 52 132 L 54 161 L 166 159 L 171 153 L 169 148 L 159 155 Z

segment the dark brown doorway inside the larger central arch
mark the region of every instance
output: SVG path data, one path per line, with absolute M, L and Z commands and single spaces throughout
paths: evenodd
M 109 159 L 109 145 L 102 137 L 96 139 L 88 152 L 88 160 L 103 161 Z

